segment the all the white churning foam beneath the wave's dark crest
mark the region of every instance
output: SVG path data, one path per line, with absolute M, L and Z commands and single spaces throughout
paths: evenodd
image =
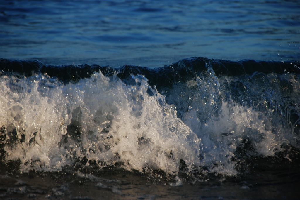
M 127 84 L 101 73 L 68 84 L 42 75 L 2 76 L 6 159 L 20 159 L 24 171 L 95 160 L 99 167 L 118 162 L 127 170 L 177 174 L 184 161 L 187 172 L 205 167 L 235 175 L 236 150 L 245 141 L 254 156 L 273 156 L 281 144 L 293 142 L 295 135 L 276 122 L 274 109 L 226 99 L 218 81 L 214 74 L 201 74 L 177 84 L 167 104 L 143 76 L 132 76 Z

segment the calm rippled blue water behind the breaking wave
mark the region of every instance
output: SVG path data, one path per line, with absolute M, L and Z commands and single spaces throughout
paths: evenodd
M 160 67 L 192 56 L 298 60 L 298 1 L 6 1 L 0 57 Z

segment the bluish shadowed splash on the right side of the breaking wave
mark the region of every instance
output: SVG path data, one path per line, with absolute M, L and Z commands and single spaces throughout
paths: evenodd
M 297 79 L 263 73 L 216 77 L 208 70 L 174 85 L 166 99 L 179 107 L 178 117 L 201 140 L 200 165 L 235 175 L 247 159 L 298 145 Z

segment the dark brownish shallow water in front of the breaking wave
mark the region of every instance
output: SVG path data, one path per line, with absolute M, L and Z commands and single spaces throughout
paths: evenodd
M 157 175 L 110 168 L 95 173 L 13 173 L 1 175 L 0 195 L 3 199 L 298 199 L 300 162 L 288 167 L 289 162 L 280 168 L 261 163 L 247 175 L 226 179 L 211 175 L 205 181 L 177 185 Z

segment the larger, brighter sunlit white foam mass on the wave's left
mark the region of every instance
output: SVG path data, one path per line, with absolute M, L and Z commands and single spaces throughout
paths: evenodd
M 78 161 L 167 173 L 177 173 L 182 160 L 190 169 L 199 165 L 196 135 L 143 76 L 125 84 L 95 74 L 66 85 L 2 76 L 1 96 L 6 159 L 20 159 L 22 170 Z

